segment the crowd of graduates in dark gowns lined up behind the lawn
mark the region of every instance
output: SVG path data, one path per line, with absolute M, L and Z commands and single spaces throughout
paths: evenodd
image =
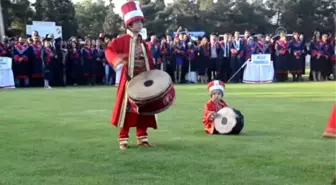
M 0 43 L 0 56 L 13 59 L 16 87 L 63 85 L 95 85 L 115 83 L 115 67 L 105 58 L 104 48 L 117 35 L 101 34 L 94 38 L 70 38 L 64 41 L 48 34 L 44 37 L 34 31 L 27 38 L 20 36 Z M 196 72 L 198 82 L 214 79 L 226 82 L 252 54 L 270 54 L 274 81 L 302 81 L 305 74 L 306 55 L 311 56 L 310 80 L 336 79 L 336 34 L 314 32 L 313 39 L 294 32 L 289 38 L 285 33 L 251 36 L 245 31 L 241 36 L 210 34 L 193 38 L 180 27 L 177 34 L 149 34 L 146 46 L 152 53 L 157 69 L 168 72 L 175 83 L 186 83 L 186 74 Z M 243 81 L 243 70 L 232 82 Z

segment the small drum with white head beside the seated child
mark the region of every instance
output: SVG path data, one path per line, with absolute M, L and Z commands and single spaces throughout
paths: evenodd
M 244 116 L 239 110 L 224 107 L 217 112 L 220 116 L 215 118 L 215 129 L 219 134 L 239 134 L 244 128 Z

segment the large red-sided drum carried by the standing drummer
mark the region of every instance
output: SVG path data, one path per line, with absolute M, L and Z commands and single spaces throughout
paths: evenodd
M 175 100 L 175 88 L 168 73 L 151 70 L 132 78 L 127 87 L 139 114 L 154 115 L 168 109 Z

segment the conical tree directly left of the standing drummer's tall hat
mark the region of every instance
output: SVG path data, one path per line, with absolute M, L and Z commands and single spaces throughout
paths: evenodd
M 118 14 L 114 12 L 114 4 L 110 3 L 103 24 L 104 32 L 109 34 L 119 33 L 121 31 L 122 25 L 122 19 Z

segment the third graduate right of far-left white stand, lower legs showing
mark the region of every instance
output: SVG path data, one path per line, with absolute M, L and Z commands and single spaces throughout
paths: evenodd
M 43 64 L 44 88 L 51 89 L 50 82 L 53 80 L 54 75 L 52 68 L 58 58 L 56 57 L 56 51 L 52 47 L 50 38 L 43 39 L 43 46 L 41 59 Z

